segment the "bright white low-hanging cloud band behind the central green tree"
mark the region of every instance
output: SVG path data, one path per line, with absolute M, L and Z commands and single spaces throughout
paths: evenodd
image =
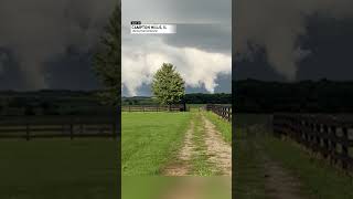
M 158 44 L 157 44 L 158 45 Z M 122 46 L 122 88 L 131 96 L 138 95 L 143 84 L 150 84 L 153 74 L 163 63 L 172 63 L 191 87 L 204 86 L 213 93 L 218 74 L 231 74 L 232 57 L 195 48 L 175 48 L 160 43 L 159 49 L 136 51 Z

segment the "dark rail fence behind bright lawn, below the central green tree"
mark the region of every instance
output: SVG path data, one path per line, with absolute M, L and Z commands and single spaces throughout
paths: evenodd
M 184 112 L 184 105 L 124 105 L 122 112 Z

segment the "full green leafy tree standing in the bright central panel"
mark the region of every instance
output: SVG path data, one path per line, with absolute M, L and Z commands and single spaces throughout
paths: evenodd
M 153 76 L 152 92 L 161 104 L 179 103 L 185 95 L 184 81 L 170 63 L 163 63 Z

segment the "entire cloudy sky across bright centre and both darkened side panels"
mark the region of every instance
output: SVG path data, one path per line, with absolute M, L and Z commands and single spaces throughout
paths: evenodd
M 1 0 L 0 90 L 98 88 L 90 56 L 115 3 Z M 232 39 L 231 0 L 122 0 L 124 95 L 149 95 L 162 61 L 176 66 L 188 92 L 229 92 L 232 76 L 352 80 L 352 0 L 233 6 Z M 178 33 L 131 35 L 131 20 L 176 23 Z

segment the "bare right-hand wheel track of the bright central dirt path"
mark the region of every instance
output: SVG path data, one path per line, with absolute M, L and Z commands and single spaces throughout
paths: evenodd
M 205 145 L 210 161 L 221 172 L 221 176 L 232 176 L 232 147 L 225 143 L 221 133 L 204 115 L 202 121 L 205 127 Z

